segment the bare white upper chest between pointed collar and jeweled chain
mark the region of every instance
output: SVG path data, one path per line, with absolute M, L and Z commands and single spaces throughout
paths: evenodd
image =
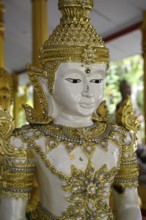
M 56 173 L 60 172 L 66 176 L 72 176 L 73 167 L 81 172 L 86 172 L 89 162 L 92 163 L 95 171 L 103 166 L 106 166 L 109 171 L 118 167 L 120 149 L 110 140 L 107 141 L 107 150 L 99 145 L 94 145 L 94 149 L 90 154 L 87 154 L 86 149 L 81 146 L 76 146 L 68 151 L 63 142 L 48 150 L 46 141 L 44 143 L 41 152 L 38 152 L 37 161 L 40 165 L 43 164 L 44 166 L 45 164 L 48 169 L 56 170 Z M 90 149 L 92 147 L 89 145 L 86 148 Z

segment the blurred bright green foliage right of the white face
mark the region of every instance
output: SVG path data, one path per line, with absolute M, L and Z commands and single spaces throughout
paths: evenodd
M 134 105 L 138 108 L 138 112 L 142 113 L 144 108 L 143 59 L 140 55 L 111 63 L 105 82 L 105 99 L 111 113 L 115 111 L 116 104 L 121 101 L 119 85 L 124 79 L 131 85 Z

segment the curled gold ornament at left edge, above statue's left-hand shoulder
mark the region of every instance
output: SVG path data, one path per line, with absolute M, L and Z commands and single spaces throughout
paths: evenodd
M 8 111 L 0 106 L 0 154 L 6 153 L 9 138 L 14 130 L 14 120 Z M 8 149 L 7 149 L 8 150 Z

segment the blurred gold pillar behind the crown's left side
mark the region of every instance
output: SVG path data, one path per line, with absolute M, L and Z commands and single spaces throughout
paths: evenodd
M 32 0 L 32 28 L 33 28 L 33 65 L 39 66 L 39 50 L 44 41 L 48 38 L 48 16 L 47 16 L 47 0 Z M 41 114 L 40 103 L 34 92 L 34 107 Z

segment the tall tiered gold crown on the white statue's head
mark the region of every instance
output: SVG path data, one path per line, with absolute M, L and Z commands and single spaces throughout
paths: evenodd
M 40 62 L 53 93 L 57 68 L 62 62 L 109 65 L 109 50 L 88 17 L 93 0 L 59 0 L 60 24 L 40 50 Z

